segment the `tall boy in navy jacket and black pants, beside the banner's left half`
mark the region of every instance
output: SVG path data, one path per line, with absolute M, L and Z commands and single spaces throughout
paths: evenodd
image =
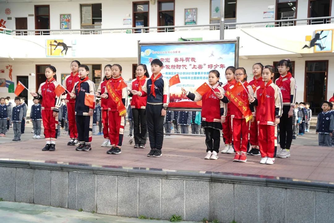
M 169 103 L 169 82 L 162 76 L 162 62 L 154 59 L 151 63 L 152 76 L 146 79 L 141 91 L 133 90 L 133 95 L 145 97 L 147 95 L 146 117 L 150 139 L 151 151 L 149 157 L 162 155 L 162 142 L 164 139 L 164 116 Z

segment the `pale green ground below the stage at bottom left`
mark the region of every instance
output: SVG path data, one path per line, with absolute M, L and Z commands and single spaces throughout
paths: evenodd
M 31 222 L 52 222 L 52 223 L 167 223 L 163 220 L 148 220 L 128 217 L 118 217 L 89 212 L 78 212 L 64 208 L 54 208 L 36 204 L 0 202 L 1 222 L 6 223 L 31 223 Z M 189 222 L 188 222 L 189 223 Z

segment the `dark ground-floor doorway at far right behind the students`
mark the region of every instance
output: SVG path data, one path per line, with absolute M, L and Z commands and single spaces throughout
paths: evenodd
M 305 61 L 304 101 L 310 103 L 313 114 L 322 111 L 327 99 L 328 61 Z

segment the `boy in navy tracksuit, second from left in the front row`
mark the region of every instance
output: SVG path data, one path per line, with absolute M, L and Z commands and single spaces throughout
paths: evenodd
M 90 151 L 92 149 L 93 113 L 95 109 L 95 96 L 93 106 L 85 105 L 86 93 L 95 95 L 95 84 L 88 78 L 89 68 L 87 65 L 79 66 L 79 81 L 74 84 L 69 94 L 75 99 L 75 122 L 78 130 L 79 145 L 77 151 Z

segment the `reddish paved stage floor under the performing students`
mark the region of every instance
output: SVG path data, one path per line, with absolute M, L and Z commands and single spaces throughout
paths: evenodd
M 41 151 L 45 141 L 32 139 L 31 126 L 27 124 L 21 142 L 13 142 L 12 129 L 5 138 L 0 138 L 0 159 L 40 160 L 42 162 L 75 162 L 98 165 L 117 165 L 126 167 L 158 168 L 165 170 L 213 171 L 239 174 L 265 175 L 334 182 L 334 147 L 319 147 L 314 130 L 293 140 L 291 157 L 276 158 L 274 165 L 259 164 L 259 156 L 248 156 L 246 163 L 232 162 L 233 154 L 219 154 L 218 160 L 205 160 L 203 136 L 172 135 L 164 138 L 163 156 L 147 157 L 149 147 L 134 149 L 129 144 L 126 127 L 122 153 L 106 154 L 101 147 L 102 136 L 93 136 L 92 151 L 75 151 L 67 146 L 68 136 L 61 134 L 56 151 Z M 42 129 L 43 131 L 43 129 Z M 61 130 L 62 133 L 63 130 Z M 149 145 L 149 144 L 147 144 Z M 221 143 L 223 147 L 223 143 Z

